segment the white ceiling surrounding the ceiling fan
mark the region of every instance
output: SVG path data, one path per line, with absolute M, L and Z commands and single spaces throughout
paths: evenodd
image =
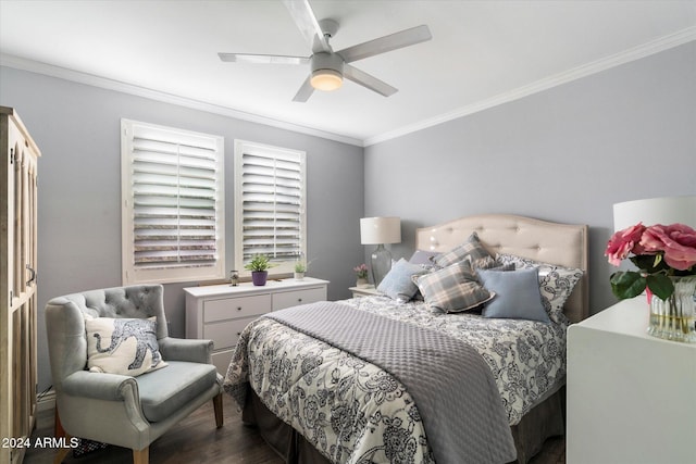
M 696 40 L 694 0 L 310 3 L 340 24 L 334 50 L 420 24 L 433 39 L 352 63 L 391 97 L 346 81 L 296 103 L 307 67 L 216 54 L 309 55 L 278 0 L 2 0 L 0 63 L 370 145 Z

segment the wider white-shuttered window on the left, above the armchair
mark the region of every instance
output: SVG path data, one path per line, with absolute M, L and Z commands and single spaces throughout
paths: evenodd
M 124 284 L 224 277 L 224 145 L 121 121 Z

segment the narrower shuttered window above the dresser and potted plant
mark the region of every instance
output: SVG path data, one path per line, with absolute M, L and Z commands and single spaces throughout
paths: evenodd
M 303 151 L 235 141 L 236 269 L 265 254 L 271 273 L 291 273 L 304 255 L 304 158 Z

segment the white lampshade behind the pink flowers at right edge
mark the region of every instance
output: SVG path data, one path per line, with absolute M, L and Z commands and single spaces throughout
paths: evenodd
M 638 223 L 681 223 L 696 228 L 696 196 L 648 198 L 613 205 L 613 229 L 623 230 Z

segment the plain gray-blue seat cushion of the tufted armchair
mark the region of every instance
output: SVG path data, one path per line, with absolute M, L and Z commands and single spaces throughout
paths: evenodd
M 170 361 L 165 369 L 136 378 L 142 414 L 149 422 L 163 421 L 217 381 L 212 364 Z

